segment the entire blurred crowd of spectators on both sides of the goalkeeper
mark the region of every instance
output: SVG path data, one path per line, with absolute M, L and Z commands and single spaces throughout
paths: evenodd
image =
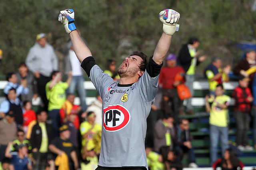
M 195 114 L 192 107 L 195 70 L 199 63 L 206 60 L 206 56 L 197 51 L 199 44 L 197 37 L 191 37 L 188 43 L 182 45 L 177 57 L 174 54 L 166 57 L 166 66 L 160 72 L 159 88 L 147 119 L 145 139 L 148 167 L 151 170 L 180 170 L 184 154 L 188 154 L 189 167 L 198 167 L 190 122 L 178 117 L 185 113 Z M 6 74 L 6 100 L 0 103 L 0 162 L 3 169 L 24 166 L 25 169 L 54 170 L 58 166 L 59 169 L 69 167 L 70 170 L 90 170 L 97 167 L 102 99 L 97 94 L 96 100 L 90 106 L 86 105 L 83 72 L 71 41 L 64 49 L 64 57 L 67 78 L 62 82 L 63 76 L 58 71 L 54 49 L 47 43 L 46 34 L 40 33 L 26 61 L 18 66 L 17 73 Z M 233 151 L 228 149 L 230 97 L 235 100 L 232 116 L 236 120 L 238 149 L 256 149 L 255 50 L 248 49 L 246 57 L 235 66 L 233 72 L 238 77 L 239 85 L 232 96 L 227 96 L 223 82 L 229 81 L 230 71 L 231 66 L 222 67 L 219 57 L 213 57 L 204 70 L 209 83 L 205 108 L 210 113 L 210 163 L 214 168 L 218 164 L 222 167 L 243 167 Z M 116 61 L 108 60 L 104 72 L 115 81 L 119 80 Z M 178 91 L 181 84 L 191 94 L 185 99 L 185 105 Z M 74 104 L 75 92 L 80 98 L 80 106 Z M 39 109 L 33 110 L 32 100 L 38 96 L 42 100 L 41 105 Z M 250 115 L 254 118 L 253 147 L 249 145 L 247 133 Z M 220 159 L 217 158 L 218 138 L 222 147 Z

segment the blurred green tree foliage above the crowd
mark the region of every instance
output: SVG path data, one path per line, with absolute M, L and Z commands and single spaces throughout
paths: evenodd
M 169 52 L 178 54 L 191 36 L 200 39 L 200 50 L 210 63 L 213 56 L 233 64 L 241 50 L 234 44 L 256 38 L 254 0 L 8 0 L 0 1 L 0 49 L 3 60 L 0 74 L 17 71 L 18 64 L 35 43 L 38 33 L 47 34 L 63 69 L 62 50 L 69 40 L 58 22 L 60 10 L 75 11 L 75 25 L 86 39 L 96 62 L 102 67 L 106 59 L 118 63 L 132 51 L 151 56 L 162 33 L 158 14 L 165 8 L 180 12 L 180 31 L 172 39 Z M 63 71 L 63 70 L 62 70 Z

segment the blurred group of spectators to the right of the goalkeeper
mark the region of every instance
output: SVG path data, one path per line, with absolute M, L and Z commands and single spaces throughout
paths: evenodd
M 191 96 L 194 95 L 191 89 L 193 89 L 195 69 L 200 62 L 204 62 L 206 59 L 205 55 L 200 56 L 200 52 L 197 51 L 199 44 L 197 37 L 191 37 L 187 44 L 182 45 L 178 57 L 174 54 L 169 54 L 166 57 L 166 66 L 160 72 L 159 89 L 150 113 L 157 116 L 150 115 L 148 117 L 147 132 L 154 135 L 147 134 L 146 136 L 146 139 L 152 136 L 154 139 L 154 142 L 146 140 L 146 153 L 153 169 L 157 166 L 158 168 L 161 167 L 155 163 L 156 161 L 162 163 L 166 169 L 179 169 L 182 167 L 181 162 L 185 153 L 188 154 L 188 166 L 197 167 L 194 148 L 191 144 L 193 139 L 190 135 L 189 120 L 178 119 L 178 115 L 183 115 L 184 112 L 189 115 L 194 114 L 191 98 L 186 98 L 186 102 L 184 102 L 179 96 L 177 86 L 185 84 L 190 89 Z M 256 129 L 254 129 L 256 127 L 256 113 L 254 113 L 256 107 L 253 103 L 256 101 L 254 100 L 254 94 L 256 94 L 256 89 L 254 90 L 256 51 L 255 49 L 247 49 L 245 54 L 246 57 L 234 66 L 233 70 L 229 64 L 223 66 L 220 57 L 211 57 L 211 63 L 204 69 L 204 76 L 209 84 L 208 95 L 205 96 L 205 111 L 210 115 L 209 149 L 210 164 L 213 168 L 221 166 L 225 169 L 228 166 L 231 169 L 237 167 L 242 169 L 244 166 L 242 162 L 234 158 L 234 153 L 229 150 L 230 116 L 234 117 L 236 121 L 235 148 L 240 151 L 256 149 Z M 232 96 L 228 96 L 223 83 L 230 81 L 232 71 L 234 73 L 233 81 L 237 81 L 238 86 L 233 90 Z M 177 76 L 184 78 L 177 80 Z M 184 90 L 184 92 L 186 91 Z M 234 98 L 234 112 L 229 111 L 231 98 Z M 254 146 L 249 145 L 248 139 L 250 120 L 252 120 L 253 125 Z M 150 128 L 151 125 L 154 127 L 153 131 Z M 220 159 L 218 159 L 217 154 L 219 139 L 221 143 Z M 169 164 L 170 167 L 167 167 L 163 160 L 165 153 L 162 148 L 172 151 L 175 155 L 175 163 Z M 230 163 L 230 159 L 234 162 Z

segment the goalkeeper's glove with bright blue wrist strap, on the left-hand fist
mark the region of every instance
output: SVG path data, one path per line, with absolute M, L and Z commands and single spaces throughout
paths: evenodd
M 74 31 L 76 29 L 76 26 L 74 24 L 75 20 L 75 12 L 72 9 L 66 9 L 63 11 L 60 11 L 59 15 L 59 21 L 63 23 L 66 32 L 69 34 L 71 31 Z

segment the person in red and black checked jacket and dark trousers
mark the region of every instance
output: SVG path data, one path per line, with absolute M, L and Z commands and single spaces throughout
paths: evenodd
M 248 88 L 249 81 L 250 78 L 239 76 L 239 85 L 234 89 L 232 95 L 235 99 L 236 143 L 240 150 L 253 150 L 248 140 L 250 110 L 253 101 L 251 90 Z

